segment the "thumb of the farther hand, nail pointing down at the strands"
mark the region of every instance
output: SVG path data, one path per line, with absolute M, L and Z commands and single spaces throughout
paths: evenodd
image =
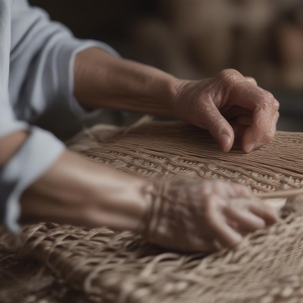
M 204 124 L 218 142 L 222 151 L 228 152 L 234 143 L 234 131 L 231 125 L 221 115 L 218 108 L 216 108 L 215 104 L 209 106 L 205 112 Z

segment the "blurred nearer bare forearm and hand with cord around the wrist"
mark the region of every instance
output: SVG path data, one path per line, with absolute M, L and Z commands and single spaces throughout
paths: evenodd
M 55 190 L 54 190 L 55 189 Z M 148 181 L 64 151 L 22 196 L 21 222 L 130 230 L 181 251 L 237 245 L 277 220 L 275 209 L 235 183 Z

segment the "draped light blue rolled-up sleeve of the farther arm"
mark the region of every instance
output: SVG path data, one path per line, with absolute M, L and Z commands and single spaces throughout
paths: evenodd
M 118 56 L 107 44 L 77 39 L 42 9 L 15 0 L 9 92 L 13 104 L 22 104 L 15 110 L 17 117 L 62 139 L 95 118 L 101 110 L 86 111 L 73 93 L 75 55 L 90 47 Z

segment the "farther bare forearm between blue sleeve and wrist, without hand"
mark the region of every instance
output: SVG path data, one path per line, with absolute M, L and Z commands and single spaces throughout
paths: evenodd
M 89 48 L 76 56 L 74 75 L 74 93 L 85 108 L 176 116 L 179 80 L 157 68 Z

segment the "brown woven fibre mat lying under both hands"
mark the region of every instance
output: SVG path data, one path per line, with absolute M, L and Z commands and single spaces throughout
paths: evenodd
M 303 133 L 277 132 L 250 154 L 239 148 L 224 154 L 208 133 L 183 122 L 97 125 L 69 144 L 96 165 L 146 178 L 219 178 L 254 192 L 303 185 Z M 0 286 L 0 302 L 303 301 L 303 211 L 297 200 L 282 208 L 280 222 L 249 234 L 236 251 L 211 255 L 167 251 L 127 231 L 27 226 L 21 248 L 0 246 L 0 285 L 11 286 Z

